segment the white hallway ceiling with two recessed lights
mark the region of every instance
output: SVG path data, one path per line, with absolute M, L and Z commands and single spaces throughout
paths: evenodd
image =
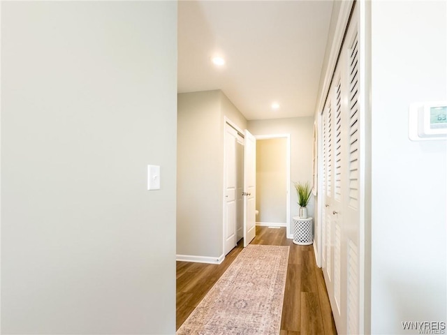
M 331 13 L 332 0 L 179 1 L 179 93 L 221 89 L 248 120 L 312 116 Z

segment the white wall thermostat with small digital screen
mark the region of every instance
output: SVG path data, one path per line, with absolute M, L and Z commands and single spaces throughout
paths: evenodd
M 446 140 L 447 101 L 411 104 L 409 137 L 413 141 Z

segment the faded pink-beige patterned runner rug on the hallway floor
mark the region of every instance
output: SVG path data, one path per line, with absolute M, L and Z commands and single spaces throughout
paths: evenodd
M 249 244 L 177 330 L 177 335 L 278 335 L 288 246 Z

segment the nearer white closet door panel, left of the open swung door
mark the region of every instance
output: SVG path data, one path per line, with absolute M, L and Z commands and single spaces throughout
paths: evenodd
M 223 205 L 223 254 L 236 246 L 236 139 L 237 131 L 225 125 L 225 174 Z

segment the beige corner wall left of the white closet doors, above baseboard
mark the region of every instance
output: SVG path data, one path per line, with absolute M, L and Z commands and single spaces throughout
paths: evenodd
M 223 253 L 223 125 L 242 114 L 220 91 L 178 95 L 177 255 Z

